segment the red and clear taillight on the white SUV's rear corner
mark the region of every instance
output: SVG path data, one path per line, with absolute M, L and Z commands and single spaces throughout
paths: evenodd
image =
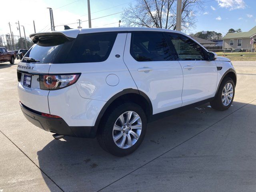
M 57 90 L 74 84 L 80 74 L 39 75 L 40 89 Z

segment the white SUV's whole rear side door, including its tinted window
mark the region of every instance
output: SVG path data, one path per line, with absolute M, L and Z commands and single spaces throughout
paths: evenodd
M 183 74 L 161 32 L 128 33 L 124 62 L 139 91 L 150 98 L 153 114 L 182 105 Z

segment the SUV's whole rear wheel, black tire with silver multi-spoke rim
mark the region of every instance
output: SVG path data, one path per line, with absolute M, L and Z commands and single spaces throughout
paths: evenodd
M 126 156 L 142 143 L 147 119 L 144 110 L 135 103 L 123 103 L 108 113 L 98 128 L 100 146 L 115 156 Z

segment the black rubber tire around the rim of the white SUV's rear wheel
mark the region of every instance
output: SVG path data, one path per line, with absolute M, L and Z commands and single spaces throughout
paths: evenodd
M 123 149 L 118 147 L 115 144 L 112 134 L 113 134 L 114 124 L 118 119 L 118 117 L 121 114 L 128 111 L 136 112 L 140 116 L 142 129 L 136 143 L 132 145 L 130 148 Z M 146 128 L 147 128 L 147 118 L 144 110 L 138 104 L 135 104 L 132 102 L 126 102 L 118 105 L 116 108 L 112 108 L 112 110 L 109 110 L 108 113 L 105 113 L 105 116 L 103 117 L 100 123 L 100 126 L 98 127 L 97 139 L 100 146 L 107 152 L 111 153 L 112 155 L 126 156 L 134 152 L 140 146 L 146 134 Z

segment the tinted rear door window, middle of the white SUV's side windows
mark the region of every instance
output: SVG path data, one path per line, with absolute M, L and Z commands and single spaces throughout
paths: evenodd
M 173 60 L 162 33 L 133 33 L 130 54 L 137 61 Z

